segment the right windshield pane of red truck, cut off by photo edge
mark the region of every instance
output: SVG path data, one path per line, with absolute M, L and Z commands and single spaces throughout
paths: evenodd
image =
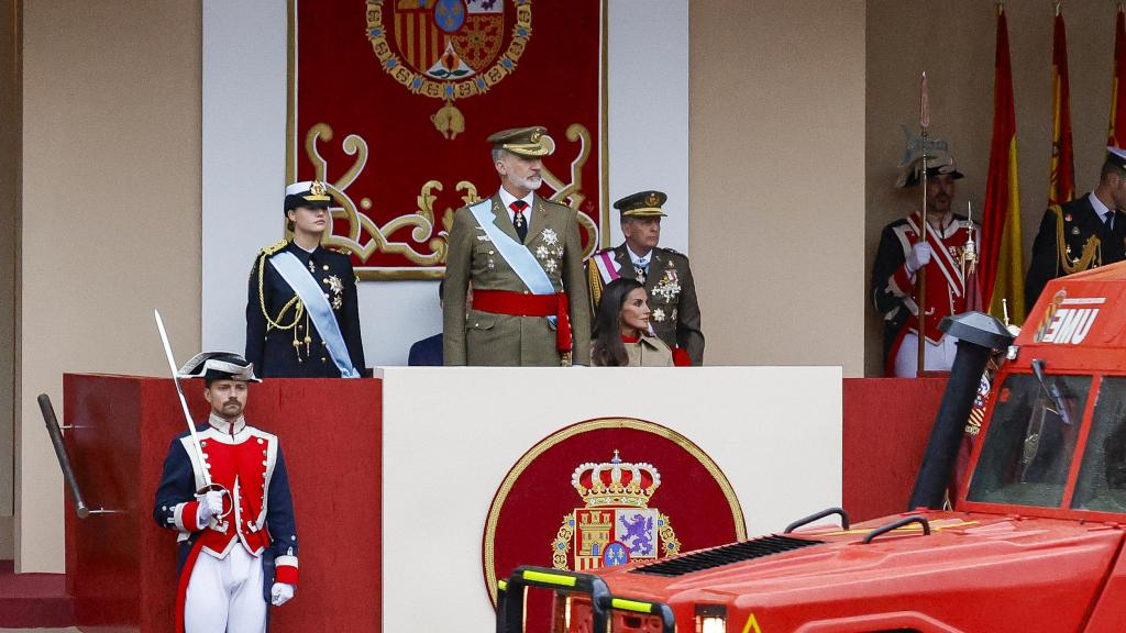
M 1105 377 L 1071 507 L 1126 512 L 1126 377 Z

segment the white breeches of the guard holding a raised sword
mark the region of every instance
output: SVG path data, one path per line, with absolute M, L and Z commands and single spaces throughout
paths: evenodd
M 262 561 L 235 544 L 225 559 L 199 552 L 184 605 L 185 633 L 265 633 Z

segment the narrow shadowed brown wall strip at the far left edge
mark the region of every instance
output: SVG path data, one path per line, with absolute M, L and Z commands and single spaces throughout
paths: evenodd
M 12 558 L 16 407 L 16 258 L 19 232 L 19 18 L 0 0 L 0 560 Z

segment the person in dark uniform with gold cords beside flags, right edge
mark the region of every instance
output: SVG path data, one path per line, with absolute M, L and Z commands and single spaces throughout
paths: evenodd
M 1031 311 L 1048 279 L 1126 259 L 1126 151 L 1107 148 L 1099 186 L 1044 212 L 1025 277 Z

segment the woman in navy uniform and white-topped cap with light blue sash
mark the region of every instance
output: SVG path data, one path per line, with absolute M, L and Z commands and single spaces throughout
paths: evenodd
M 263 377 L 359 377 L 364 371 L 356 273 L 321 247 L 332 197 L 316 180 L 286 187 L 293 240 L 262 249 L 250 270 L 247 360 Z

